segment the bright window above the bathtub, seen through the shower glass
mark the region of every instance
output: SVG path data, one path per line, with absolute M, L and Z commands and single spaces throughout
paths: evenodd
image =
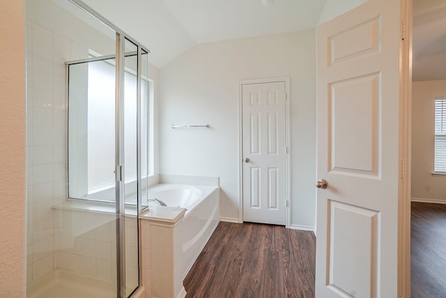
M 141 114 L 138 117 L 136 55 L 131 47 L 126 49 L 124 123 L 121 124 L 126 203 L 134 203 L 138 170 L 144 184 L 154 168 L 153 81 L 147 75 L 147 55 L 142 57 L 145 63 L 141 64 Z M 116 59 L 98 57 L 92 52 L 91 59 L 68 64 L 68 77 L 68 197 L 114 202 Z M 137 140 L 138 135 L 140 140 Z M 139 156 L 141 163 L 137 168 Z

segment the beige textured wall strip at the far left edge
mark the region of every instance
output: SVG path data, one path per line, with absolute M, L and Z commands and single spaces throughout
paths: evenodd
M 24 3 L 0 2 L 0 297 L 25 293 Z

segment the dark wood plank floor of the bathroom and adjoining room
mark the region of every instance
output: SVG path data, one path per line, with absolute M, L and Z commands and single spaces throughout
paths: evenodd
M 411 297 L 446 297 L 446 204 L 412 203 Z M 314 297 L 312 232 L 220 223 L 184 280 L 192 297 Z

